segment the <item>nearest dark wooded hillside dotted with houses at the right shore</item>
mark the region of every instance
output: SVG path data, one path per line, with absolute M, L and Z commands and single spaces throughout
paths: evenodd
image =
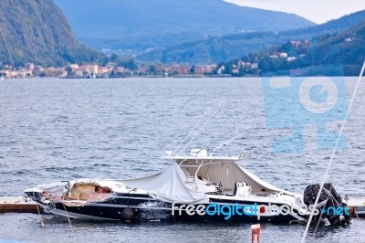
M 267 48 L 242 58 L 257 62 L 262 76 L 358 76 L 365 60 L 365 21 L 336 34 L 310 40 L 288 41 L 277 48 Z M 225 64 L 231 73 L 238 59 Z M 249 71 L 249 70 L 248 70 Z M 237 76 L 249 74 L 240 69 Z

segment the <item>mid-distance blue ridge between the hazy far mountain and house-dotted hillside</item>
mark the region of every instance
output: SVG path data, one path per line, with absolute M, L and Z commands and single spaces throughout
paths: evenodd
M 249 32 L 224 37 L 209 37 L 205 40 L 186 42 L 169 48 L 159 48 L 138 56 L 143 61 L 163 63 L 184 62 L 194 64 L 217 63 L 242 58 L 249 53 L 272 46 L 280 46 L 288 40 L 311 39 L 324 34 L 334 34 L 356 26 L 365 19 L 365 11 L 329 21 L 328 23 L 274 32 Z

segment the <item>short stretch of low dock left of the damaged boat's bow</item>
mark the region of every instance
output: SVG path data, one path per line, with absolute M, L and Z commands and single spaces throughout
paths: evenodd
M 35 213 L 43 212 L 35 202 L 26 202 L 23 196 L 0 197 L 0 214 L 4 213 Z

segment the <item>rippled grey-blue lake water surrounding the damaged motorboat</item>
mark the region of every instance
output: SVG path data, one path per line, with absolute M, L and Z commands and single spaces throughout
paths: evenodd
M 296 79 L 293 79 L 296 81 Z M 299 81 L 299 79 L 298 79 Z M 346 81 L 347 100 L 356 78 Z M 0 87 L 0 196 L 37 184 L 85 177 L 124 179 L 154 174 L 162 159 L 204 116 L 215 114 L 193 148 L 251 153 L 242 164 L 278 187 L 303 193 L 320 183 L 331 151 L 317 149 L 316 124 L 304 153 L 278 154 L 273 142 L 290 131 L 267 127 L 261 79 L 23 79 Z M 365 198 L 365 83 L 355 99 L 328 181 L 341 195 Z M 204 120 L 206 121 L 206 119 Z M 340 122 L 328 124 L 339 131 Z M 0 239 L 22 242 L 250 242 L 250 225 L 96 223 L 32 214 L 0 215 Z M 365 219 L 321 227 L 308 242 L 365 242 Z M 262 242 L 299 242 L 304 226 L 265 224 Z M 1 240 L 0 240 L 1 241 Z

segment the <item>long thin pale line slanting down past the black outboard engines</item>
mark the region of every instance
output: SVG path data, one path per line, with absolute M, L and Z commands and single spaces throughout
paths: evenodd
M 349 119 L 349 111 L 351 111 L 352 104 L 353 104 L 353 102 L 355 100 L 355 97 L 356 97 L 356 94 L 357 94 L 357 92 L 359 90 L 360 81 L 361 81 L 362 76 L 364 75 L 364 70 L 365 70 L 365 61 L 364 61 L 364 64 L 362 65 L 362 69 L 360 71 L 360 76 L 359 76 L 359 79 L 358 79 L 358 81 L 356 83 L 355 90 L 352 93 L 351 100 L 349 101 L 349 108 L 348 108 L 348 111 L 346 112 L 345 119 L 342 122 L 341 130 L 339 131 L 339 136 L 337 137 L 337 141 L 336 141 L 336 144 L 335 144 L 335 148 L 332 150 L 332 153 L 331 153 L 331 156 L 330 156 L 330 159 L 329 159 L 329 162 L 328 162 L 327 170 L 326 170 L 326 173 L 323 176 L 322 183 L 321 183 L 321 185 L 319 187 L 318 195 L 316 197 L 316 201 L 314 203 L 314 206 L 317 206 L 318 205 L 319 197 L 320 197 L 320 195 L 322 193 L 322 190 L 323 190 L 323 187 L 324 187 L 324 185 L 325 185 L 325 183 L 327 181 L 328 173 L 329 173 L 330 167 L 333 164 L 333 158 L 335 157 L 335 154 L 337 152 L 337 148 L 339 147 L 339 140 L 340 140 L 341 135 L 342 135 L 342 133 L 343 133 L 343 131 L 345 129 L 346 122 L 348 122 L 348 119 Z M 313 219 L 313 215 L 314 215 L 314 211 L 311 210 L 310 211 L 310 216 L 309 216 L 309 219 L 308 219 L 308 223 L 307 223 L 307 227 L 306 227 L 306 230 L 304 231 L 304 234 L 303 234 L 303 238 L 301 240 L 301 243 L 304 243 L 306 241 L 306 237 L 308 235 L 308 230 L 309 230 L 310 222 Z M 314 232 L 313 236 L 314 235 L 316 235 L 316 231 Z

